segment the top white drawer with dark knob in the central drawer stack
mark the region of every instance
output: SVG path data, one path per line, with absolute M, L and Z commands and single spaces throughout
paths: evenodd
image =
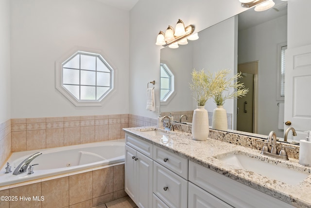
M 188 159 L 154 145 L 154 161 L 188 180 Z

